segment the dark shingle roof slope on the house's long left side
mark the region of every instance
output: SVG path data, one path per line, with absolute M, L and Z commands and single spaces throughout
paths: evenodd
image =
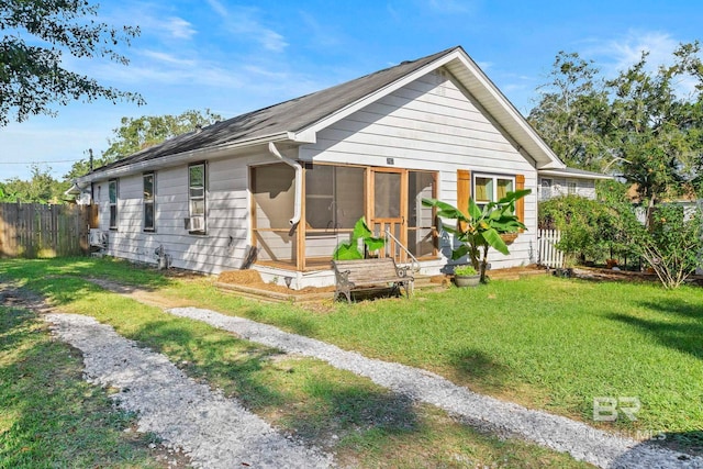
M 370 75 L 217 122 L 199 132 L 190 132 L 135 153 L 126 158 L 96 169 L 102 172 L 122 166 L 147 161 L 183 152 L 215 147 L 237 141 L 265 137 L 284 132 L 300 132 L 335 112 L 380 90 L 408 74 L 424 67 L 460 47 L 453 47 L 416 60 L 376 71 Z

